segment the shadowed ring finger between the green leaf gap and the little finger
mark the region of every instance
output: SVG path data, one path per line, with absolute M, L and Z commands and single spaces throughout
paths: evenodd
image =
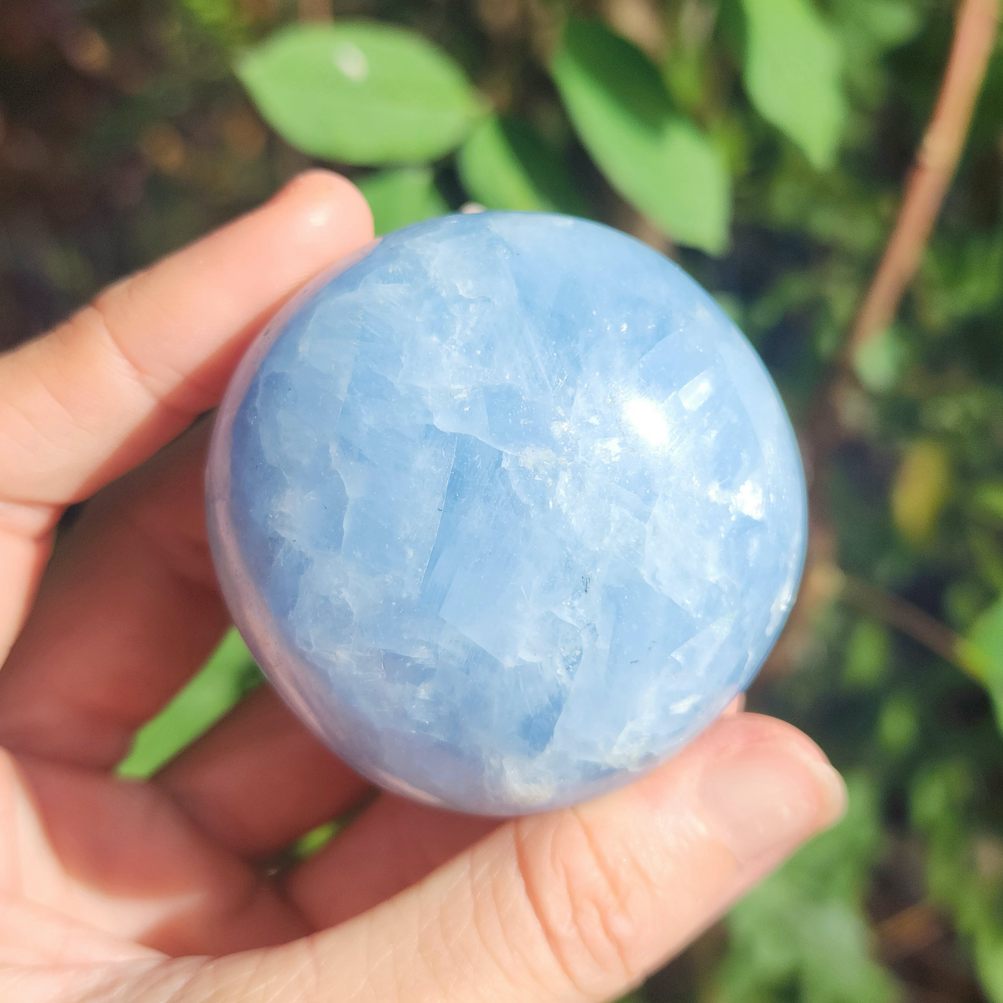
M 250 860 L 284 850 L 369 789 L 271 687 L 244 699 L 155 783 L 217 844 Z

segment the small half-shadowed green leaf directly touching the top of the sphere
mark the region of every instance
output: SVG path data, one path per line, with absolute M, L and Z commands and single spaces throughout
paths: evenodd
M 456 159 L 470 196 L 487 209 L 587 213 L 561 157 L 520 118 L 488 118 Z

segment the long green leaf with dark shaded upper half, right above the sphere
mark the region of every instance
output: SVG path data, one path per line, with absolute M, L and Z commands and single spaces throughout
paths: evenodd
M 551 72 L 613 187 L 673 240 L 722 252 L 731 215 L 723 157 L 674 111 L 648 57 L 599 21 L 572 20 Z

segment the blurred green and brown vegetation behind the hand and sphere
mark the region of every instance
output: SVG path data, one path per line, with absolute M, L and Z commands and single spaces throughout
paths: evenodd
M 948 0 L 4 0 L 0 338 L 312 162 L 379 232 L 556 209 L 672 256 L 802 433 L 804 587 L 750 703 L 847 819 L 649 1003 L 1003 1003 L 1003 47 L 894 323 L 848 354 L 951 46 Z M 231 635 L 144 775 L 260 682 Z M 330 835 L 313 833 L 297 852 Z

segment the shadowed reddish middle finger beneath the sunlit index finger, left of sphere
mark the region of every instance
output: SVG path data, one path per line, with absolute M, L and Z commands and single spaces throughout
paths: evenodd
M 0 744 L 98 768 L 229 623 L 203 508 L 208 422 L 98 494 L 57 549 L 0 672 Z

